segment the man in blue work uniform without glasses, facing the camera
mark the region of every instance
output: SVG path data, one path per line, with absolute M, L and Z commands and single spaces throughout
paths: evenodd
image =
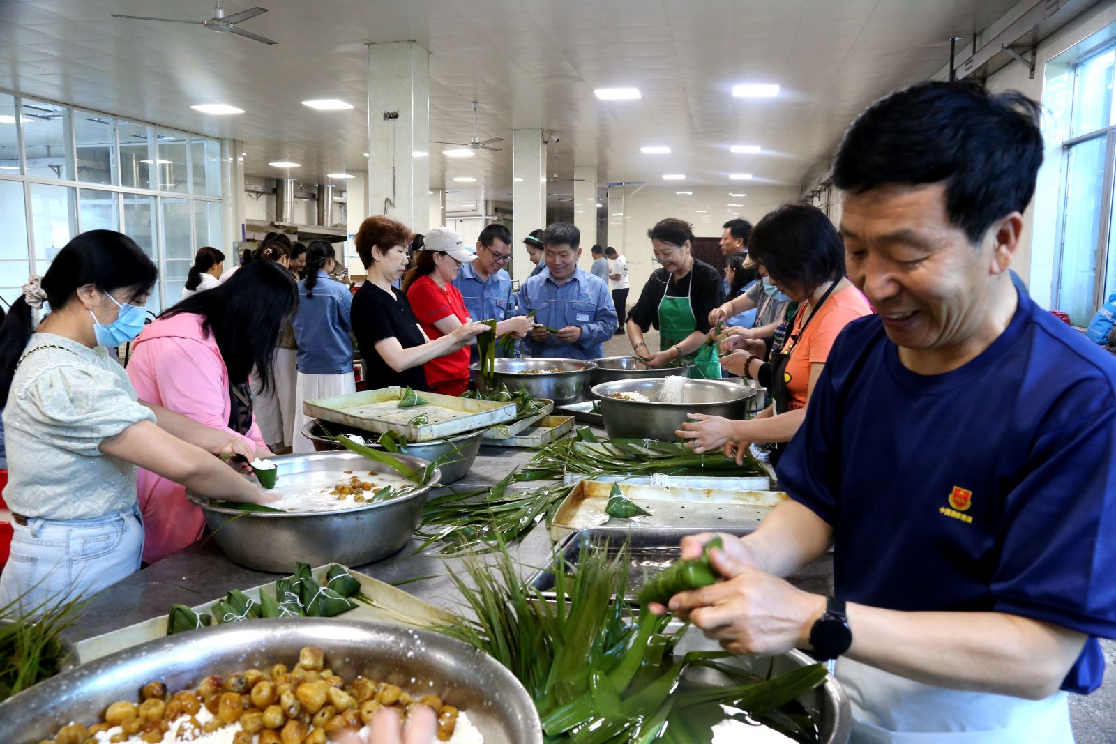
M 565 222 L 555 222 L 542 233 L 547 271 L 529 278 L 519 290 L 519 312 L 536 311 L 540 325 L 522 341 L 532 357 L 597 359 L 605 356 L 604 342 L 616 330 L 608 286 L 577 265 L 580 241 L 581 232 Z

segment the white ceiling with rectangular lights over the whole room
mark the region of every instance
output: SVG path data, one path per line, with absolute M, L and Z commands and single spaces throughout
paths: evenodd
M 499 153 L 449 161 L 431 147 L 431 186 L 480 180 L 487 199 L 511 192 L 512 128 L 560 136 L 548 171 L 598 165 L 598 183 L 684 173 L 686 185 L 800 185 L 870 100 L 923 79 L 1016 0 L 258 0 L 270 9 L 242 28 L 266 46 L 179 23 L 210 0 L 0 0 L 0 89 L 244 142 L 250 175 L 302 164 L 314 183 L 365 167 L 368 41 L 415 39 L 431 51 L 431 138 L 472 134 Z M 251 7 L 229 0 L 227 15 Z M 738 83 L 777 83 L 773 99 L 731 96 Z M 636 102 L 600 102 L 597 87 L 635 86 Z M 316 112 L 299 102 L 356 106 Z M 193 104 L 227 103 L 239 116 Z M 758 155 L 729 153 L 756 144 Z M 670 155 L 644 155 L 667 145 Z M 375 167 L 375 164 L 372 165 Z M 551 191 L 564 195 L 571 184 Z

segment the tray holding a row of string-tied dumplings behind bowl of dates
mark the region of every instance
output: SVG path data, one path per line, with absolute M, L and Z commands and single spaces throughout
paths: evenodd
M 326 573 L 329 571 L 331 566 L 333 563 L 319 566 L 311 571 L 311 574 L 319 583 L 325 586 Z M 384 583 L 383 581 L 373 579 L 371 576 L 352 569 L 349 569 L 349 573 L 354 579 L 360 582 L 360 591 L 364 592 L 364 595 L 368 597 L 373 603 L 366 605 L 359 600 L 353 600 L 356 602 L 356 607 L 348 612 L 338 615 L 338 618 L 344 618 L 346 620 L 378 620 L 382 622 L 392 622 L 412 628 L 430 628 L 454 621 L 451 613 L 434 607 L 417 597 L 408 595 L 402 589 L 393 587 L 389 583 Z M 252 587 L 251 589 L 243 589 L 242 591 L 250 599 L 259 601 L 260 591 L 268 591 L 273 595 L 275 586 L 275 581 L 271 581 L 258 587 Z M 221 599 L 224 599 L 224 597 L 218 597 L 191 609 L 199 613 L 206 612 L 212 615 L 213 605 Z M 167 607 L 166 609 L 170 610 L 171 608 Z M 131 648 L 132 646 L 145 644 L 148 640 L 165 637 L 167 617 L 167 615 L 161 615 L 158 617 L 151 618 L 150 620 L 131 625 L 126 628 L 119 628 L 99 636 L 79 640 L 75 645 L 77 663 L 88 664 L 94 659 L 99 659 L 125 648 Z M 244 620 L 244 622 L 252 622 L 252 620 Z

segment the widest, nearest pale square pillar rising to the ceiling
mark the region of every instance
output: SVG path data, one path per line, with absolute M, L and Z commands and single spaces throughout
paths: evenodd
M 429 147 L 430 52 L 414 41 L 369 44 L 368 214 L 426 232 Z

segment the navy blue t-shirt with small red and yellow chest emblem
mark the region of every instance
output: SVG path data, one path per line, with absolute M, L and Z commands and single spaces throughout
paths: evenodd
M 836 596 L 1000 611 L 1116 638 L 1116 360 L 1026 296 L 959 369 L 918 375 L 877 316 L 837 337 L 780 486 L 834 526 Z M 963 628 L 960 629 L 963 631 Z

